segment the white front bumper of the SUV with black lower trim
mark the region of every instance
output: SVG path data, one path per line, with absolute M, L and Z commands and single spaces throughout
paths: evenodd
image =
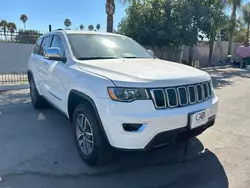
M 151 100 L 122 103 L 99 98 L 96 105 L 109 143 L 113 147 L 144 150 L 201 134 L 214 124 L 218 103 L 215 96 L 202 103 L 164 110 L 156 110 Z M 189 130 L 188 114 L 202 109 L 207 109 L 209 122 Z M 144 124 L 146 127 L 140 132 L 127 132 L 122 127 L 123 123 Z

